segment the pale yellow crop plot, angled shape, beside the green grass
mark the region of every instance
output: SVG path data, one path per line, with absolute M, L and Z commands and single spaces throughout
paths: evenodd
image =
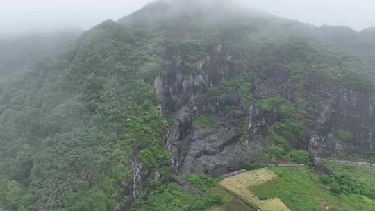
M 278 198 L 269 200 L 260 200 L 252 192 L 249 187 L 266 183 L 269 180 L 274 180 L 278 176 L 268 168 L 257 169 L 254 171 L 247 171 L 235 176 L 225 178 L 220 182 L 220 185 L 225 187 L 231 194 L 234 194 L 239 199 L 259 208 L 262 211 L 290 211 L 288 207 Z

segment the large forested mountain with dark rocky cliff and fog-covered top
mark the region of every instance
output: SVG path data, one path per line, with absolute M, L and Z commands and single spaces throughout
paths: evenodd
M 224 0 L 102 22 L 0 78 L 0 210 L 202 210 L 247 162 L 371 160 L 372 32 Z

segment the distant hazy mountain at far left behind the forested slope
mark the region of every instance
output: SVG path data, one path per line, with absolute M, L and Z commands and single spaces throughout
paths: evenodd
M 48 56 L 56 56 L 74 44 L 83 30 L 29 33 L 0 40 L 0 73 L 20 71 Z

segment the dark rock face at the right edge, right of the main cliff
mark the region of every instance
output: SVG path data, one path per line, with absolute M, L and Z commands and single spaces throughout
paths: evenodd
M 333 153 L 357 153 L 374 155 L 374 107 L 365 96 L 344 88 L 331 87 L 331 91 L 318 90 L 326 96 L 320 105 L 317 128 L 310 136 L 309 150 L 317 156 L 327 157 Z M 351 128 L 354 137 L 342 142 L 333 130 Z

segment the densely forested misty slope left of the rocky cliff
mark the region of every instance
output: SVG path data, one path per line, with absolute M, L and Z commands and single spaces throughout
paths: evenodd
M 0 208 L 113 210 L 131 200 L 119 183 L 132 162 L 169 172 L 167 121 L 143 78 L 158 57 L 148 40 L 104 22 L 0 85 Z M 138 186 L 156 187 L 150 177 Z

